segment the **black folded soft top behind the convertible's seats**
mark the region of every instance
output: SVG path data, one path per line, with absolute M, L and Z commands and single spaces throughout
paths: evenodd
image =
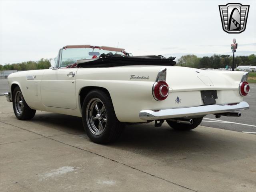
M 165 58 L 163 56 L 124 56 L 120 54 L 101 54 L 100 57 L 94 59 L 78 60 L 77 66 L 80 68 L 93 67 L 116 67 L 128 65 L 166 65 L 174 66 L 175 57 Z

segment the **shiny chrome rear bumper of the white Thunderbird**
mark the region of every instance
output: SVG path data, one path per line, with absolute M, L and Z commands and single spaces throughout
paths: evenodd
M 224 105 L 204 105 L 197 107 L 175 108 L 175 109 L 161 109 L 161 110 L 142 110 L 140 111 L 140 119 L 142 120 L 160 120 L 171 119 L 178 117 L 200 116 L 207 114 L 218 114 L 225 112 L 232 112 L 236 110 L 248 109 L 249 104 L 242 101 L 237 104 Z

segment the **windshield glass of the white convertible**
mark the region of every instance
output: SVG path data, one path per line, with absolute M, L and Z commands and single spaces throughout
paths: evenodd
M 62 49 L 62 57 L 61 57 L 61 67 L 68 66 L 70 64 L 76 63 L 79 59 L 92 59 L 99 57 L 101 54 L 122 54 L 123 52 L 118 51 L 108 51 L 108 50 L 102 50 L 98 48 L 68 48 L 68 49 Z

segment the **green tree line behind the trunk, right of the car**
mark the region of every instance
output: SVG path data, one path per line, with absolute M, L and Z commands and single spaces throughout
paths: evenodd
M 196 55 L 184 55 L 178 59 L 177 66 L 186 66 L 192 68 L 230 68 L 232 66 L 233 57 L 230 55 L 217 55 L 197 57 Z M 256 56 L 251 54 L 249 56 L 235 56 L 235 68 L 240 65 L 256 65 Z

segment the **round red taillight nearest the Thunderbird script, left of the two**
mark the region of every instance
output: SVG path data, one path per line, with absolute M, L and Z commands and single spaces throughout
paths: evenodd
M 152 93 L 156 100 L 165 100 L 169 94 L 168 84 L 165 81 L 155 82 L 152 89 Z

